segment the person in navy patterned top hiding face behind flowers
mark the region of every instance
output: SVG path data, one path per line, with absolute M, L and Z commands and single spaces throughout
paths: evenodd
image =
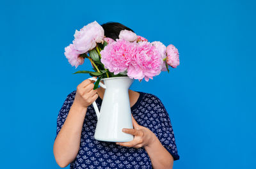
M 129 29 L 118 22 L 102 25 L 104 34 L 116 40 L 121 30 Z M 133 31 L 132 31 L 133 32 Z M 103 83 L 103 82 L 102 82 Z M 53 152 L 62 168 L 172 168 L 179 159 L 170 117 L 154 94 L 129 90 L 134 129 L 123 132 L 134 135 L 131 142 L 115 143 L 95 140 L 97 115 L 92 103 L 100 109 L 104 89 L 93 90 L 93 81 L 84 80 L 68 94 L 57 118 Z

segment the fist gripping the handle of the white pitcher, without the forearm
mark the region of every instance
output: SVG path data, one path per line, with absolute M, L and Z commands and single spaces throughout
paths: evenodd
M 93 81 L 89 79 L 86 79 L 81 82 L 81 84 L 77 85 L 74 103 L 83 108 L 87 108 L 92 105 L 93 101 L 99 97 L 97 89 L 93 90 L 93 87 Z

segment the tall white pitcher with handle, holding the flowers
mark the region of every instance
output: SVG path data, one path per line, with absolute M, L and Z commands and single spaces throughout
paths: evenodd
M 88 79 L 97 81 L 94 77 Z M 105 92 L 100 112 L 95 101 L 93 102 L 98 119 L 94 138 L 105 142 L 130 142 L 134 136 L 124 133 L 122 128 L 133 128 L 128 89 L 134 80 L 129 77 L 102 80 L 104 84 L 100 82 L 99 85 Z

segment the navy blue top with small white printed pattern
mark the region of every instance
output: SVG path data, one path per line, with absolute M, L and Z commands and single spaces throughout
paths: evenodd
M 76 91 L 68 94 L 60 109 L 56 136 L 67 118 L 75 96 Z M 102 99 L 98 97 L 96 103 L 100 110 Z M 170 117 L 157 96 L 140 92 L 138 101 L 131 107 L 131 112 L 138 124 L 150 129 L 157 136 L 164 148 L 172 154 L 174 160 L 179 159 Z M 115 142 L 95 140 L 93 135 L 96 124 L 97 115 L 93 106 L 90 105 L 84 118 L 79 152 L 74 161 L 70 163 L 70 168 L 152 168 L 144 147 L 136 149 L 116 145 Z

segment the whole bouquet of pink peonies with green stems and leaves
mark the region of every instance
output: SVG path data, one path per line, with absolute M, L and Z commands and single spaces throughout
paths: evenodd
M 77 71 L 101 78 L 128 76 L 146 81 L 179 65 L 179 52 L 173 45 L 167 47 L 160 41 L 150 43 L 126 29 L 120 31 L 119 39 L 104 36 L 104 29 L 96 21 L 84 26 L 74 34 L 73 43 L 65 47 L 65 56 L 72 66 L 79 66 L 89 59 L 93 71 Z M 76 74 L 73 73 L 73 74 Z

